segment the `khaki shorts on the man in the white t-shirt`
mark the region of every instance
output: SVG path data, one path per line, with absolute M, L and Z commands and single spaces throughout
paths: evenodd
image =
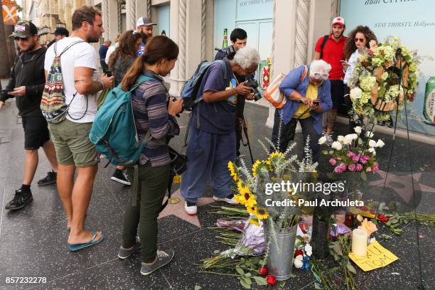
M 92 123 L 75 123 L 68 119 L 48 124 L 56 157 L 61 165 L 88 167 L 98 163 L 98 154 L 89 140 Z

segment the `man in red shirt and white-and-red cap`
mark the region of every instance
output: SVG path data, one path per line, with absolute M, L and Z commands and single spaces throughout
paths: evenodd
M 314 49 L 315 60 L 325 60 L 332 66 L 331 73 L 329 73 L 329 80 L 331 81 L 331 99 L 333 101 L 333 108 L 328 111 L 326 119 L 326 140 L 332 144 L 333 139 L 331 134 L 334 129 L 335 119 L 337 118 L 337 110 L 343 103 L 343 63 L 344 46 L 346 37 L 343 36 L 345 31 L 345 23 L 343 17 L 335 17 L 332 23 L 332 33 L 328 36 L 318 38 L 316 48 Z

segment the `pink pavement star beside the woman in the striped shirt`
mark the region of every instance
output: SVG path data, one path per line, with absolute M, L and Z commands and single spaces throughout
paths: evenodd
M 163 202 L 165 200 L 163 200 Z M 213 200 L 213 198 L 198 198 L 198 208 L 202 205 L 214 202 L 215 200 Z M 160 213 L 159 218 L 164 218 L 168 215 L 175 215 L 176 217 L 181 218 L 181 220 L 186 220 L 186 222 L 190 222 L 192 225 L 201 227 L 198 215 L 188 215 L 184 211 L 184 198 L 181 196 L 180 189 L 177 189 L 171 194 L 171 200 L 169 200 L 166 208 Z

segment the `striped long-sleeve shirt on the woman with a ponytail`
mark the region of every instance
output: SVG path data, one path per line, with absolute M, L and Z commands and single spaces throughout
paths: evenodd
M 168 153 L 168 141 L 180 133 L 175 117 L 168 114 L 168 94 L 159 80 L 147 80 L 134 92 L 134 122 L 139 140 L 144 140 L 150 131 L 150 139 L 146 142 L 141 154 L 140 164 L 151 161 L 152 167 L 171 163 Z

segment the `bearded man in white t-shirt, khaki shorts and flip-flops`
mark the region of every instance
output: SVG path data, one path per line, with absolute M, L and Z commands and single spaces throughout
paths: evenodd
M 82 6 L 73 13 L 73 33 L 48 48 L 45 54 L 45 75 L 53 68 L 55 55 L 60 55 L 65 103 L 68 113 L 62 122 L 48 128 L 58 157 L 58 191 L 68 216 L 68 249 L 77 251 L 97 245 L 104 239 L 102 232 L 85 230 L 85 215 L 90 203 L 97 163 L 89 131 L 97 113 L 96 94 L 112 87 L 113 77 L 97 80 L 97 52 L 90 45 L 99 41 L 104 32 L 99 11 Z M 78 174 L 74 181 L 77 168 Z M 74 213 L 74 214 L 73 214 Z

